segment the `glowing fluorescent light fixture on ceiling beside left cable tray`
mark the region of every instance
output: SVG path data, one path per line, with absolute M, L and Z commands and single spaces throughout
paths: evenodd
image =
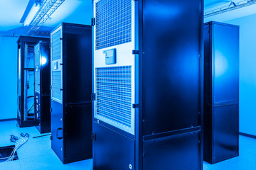
M 29 0 L 28 6 L 23 13 L 20 23 L 23 23 L 24 26 L 29 26 L 40 10 L 40 4 L 41 0 Z

